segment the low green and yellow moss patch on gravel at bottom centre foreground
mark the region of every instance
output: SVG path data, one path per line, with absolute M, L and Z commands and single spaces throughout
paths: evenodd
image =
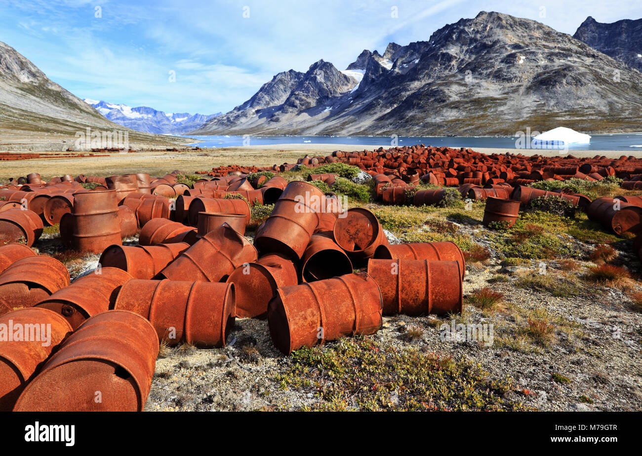
M 341 339 L 292 354 L 283 389 L 302 388 L 321 403 L 304 410 L 525 410 L 503 398 L 510 378 L 492 380 L 465 357 L 382 346 L 369 337 Z

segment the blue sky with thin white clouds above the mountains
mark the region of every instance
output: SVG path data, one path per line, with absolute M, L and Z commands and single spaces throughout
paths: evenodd
M 0 0 L 0 41 L 81 98 L 213 114 L 240 105 L 277 72 L 306 71 L 320 58 L 345 69 L 363 49 L 428 40 L 480 10 L 573 34 L 588 15 L 639 19 L 642 2 Z

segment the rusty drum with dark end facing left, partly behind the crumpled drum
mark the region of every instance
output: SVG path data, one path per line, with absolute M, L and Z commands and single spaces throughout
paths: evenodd
M 186 242 L 154 246 L 113 245 L 103 251 L 98 262 L 102 267 L 123 269 L 135 279 L 151 279 L 188 248 Z

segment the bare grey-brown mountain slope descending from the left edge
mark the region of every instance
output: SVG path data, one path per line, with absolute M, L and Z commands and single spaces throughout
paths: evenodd
M 0 42 L 0 147 L 51 150 L 73 147 L 76 133 L 127 131 L 131 146 L 180 144 L 128 130 L 49 80 L 30 60 Z

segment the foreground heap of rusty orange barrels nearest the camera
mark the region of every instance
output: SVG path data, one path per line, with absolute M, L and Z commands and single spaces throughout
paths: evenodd
M 278 188 L 253 244 L 246 199 L 183 195 L 182 221 L 150 219 L 137 245 L 113 237 L 73 281 L 55 258 L 1 246 L 0 336 L 15 335 L 0 337 L 2 409 L 142 410 L 160 344 L 223 347 L 236 318 L 267 319 L 288 354 L 372 334 L 383 315 L 461 312 L 456 244 L 390 245 L 369 210 L 306 182 Z

